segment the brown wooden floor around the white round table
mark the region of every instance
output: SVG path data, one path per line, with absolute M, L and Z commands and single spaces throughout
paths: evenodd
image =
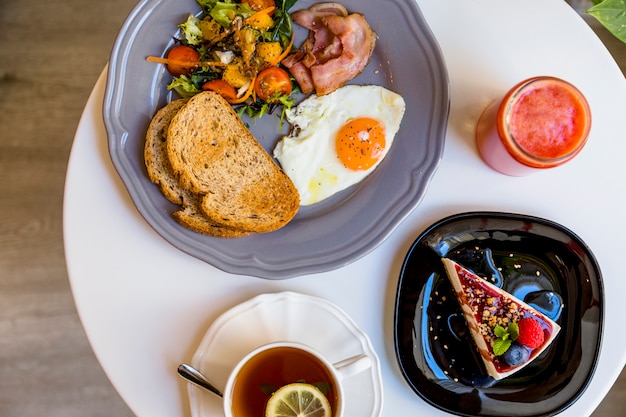
M 77 123 L 135 1 L 0 0 L 1 417 L 132 416 L 76 314 L 62 210 Z M 626 416 L 625 398 L 622 372 L 594 417 Z

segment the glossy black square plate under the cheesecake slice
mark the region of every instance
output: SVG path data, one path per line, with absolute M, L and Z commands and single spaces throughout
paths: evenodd
M 486 376 L 445 275 L 442 257 L 487 275 L 556 317 L 553 344 L 518 373 Z M 556 297 L 556 298 L 555 298 Z M 562 299 L 560 302 L 553 303 Z M 440 220 L 411 246 L 398 284 L 395 346 L 411 388 L 462 416 L 547 416 L 570 406 L 593 375 L 602 332 L 598 264 L 585 243 L 554 222 L 518 214 L 463 213 Z

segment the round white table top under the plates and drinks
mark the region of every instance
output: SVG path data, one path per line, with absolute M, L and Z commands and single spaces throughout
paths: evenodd
M 418 5 L 445 58 L 450 115 L 445 151 L 421 203 L 375 250 L 325 273 L 264 280 L 225 273 L 163 240 L 135 209 L 110 161 L 102 121 L 106 70 L 94 87 L 74 141 L 64 202 L 67 265 L 93 349 L 138 416 L 189 414 L 176 375 L 211 323 L 256 295 L 281 291 L 324 298 L 369 336 L 381 363 L 383 416 L 443 415 L 410 389 L 393 342 L 402 261 L 433 222 L 466 211 L 546 218 L 591 248 L 604 286 L 604 332 L 595 375 L 562 415 L 589 415 L 626 363 L 621 309 L 626 299 L 621 238 L 626 236 L 626 81 L 606 48 L 565 2 L 452 2 Z M 532 24 L 533 33 L 524 30 Z M 481 111 L 517 81 L 549 74 L 586 95 L 589 142 L 563 167 L 508 177 L 478 156 L 473 129 Z M 611 331 L 616 329 L 616 331 Z

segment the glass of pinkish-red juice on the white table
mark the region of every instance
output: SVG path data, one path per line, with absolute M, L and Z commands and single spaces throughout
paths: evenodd
M 590 128 L 582 92 L 560 78 L 539 76 L 487 107 L 476 126 L 476 144 L 487 165 L 522 176 L 570 161 L 585 146 Z

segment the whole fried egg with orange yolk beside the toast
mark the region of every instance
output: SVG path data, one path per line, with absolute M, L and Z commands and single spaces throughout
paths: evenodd
M 291 132 L 274 157 L 298 189 L 300 204 L 320 202 L 371 174 L 388 154 L 404 110 L 404 99 L 393 91 L 348 85 L 287 111 Z

